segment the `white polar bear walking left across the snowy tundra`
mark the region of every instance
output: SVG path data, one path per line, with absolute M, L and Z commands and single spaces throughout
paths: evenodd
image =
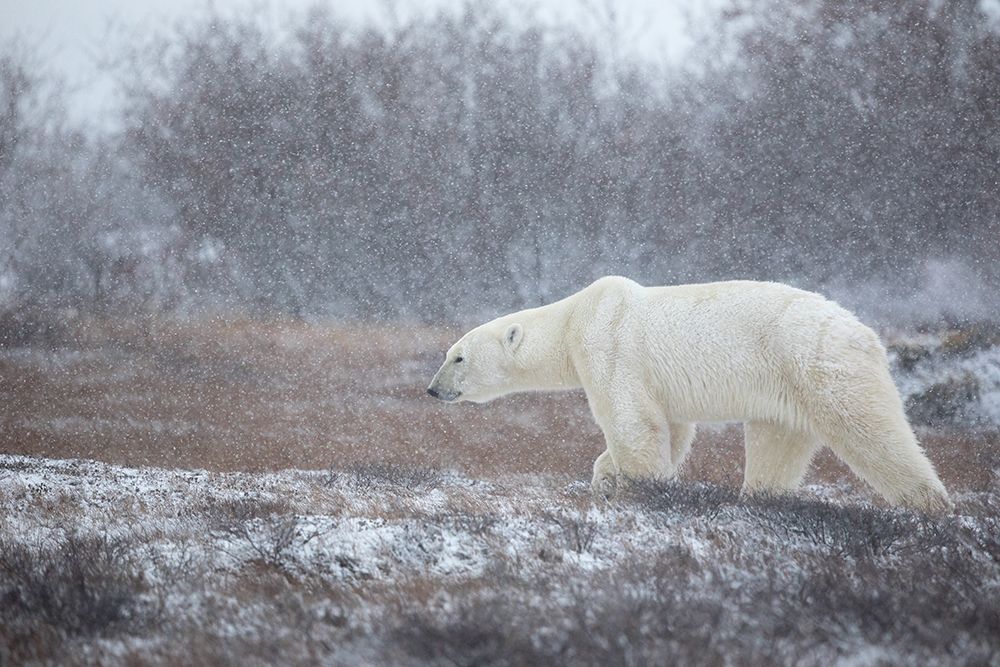
M 951 507 L 878 336 L 812 292 L 601 278 L 465 334 L 427 391 L 480 403 L 580 387 L 607 442 L 594 462 L 597 492 L 622 477 L 673 477 L 695 422 L 744 421 L 745 491 L 796 488 L 822 443 L 895 505 Z

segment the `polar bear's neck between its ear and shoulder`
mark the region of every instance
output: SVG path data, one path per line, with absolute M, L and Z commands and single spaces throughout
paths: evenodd
M 518 367 L 523 380 L 515 391 L 578 389 L 580 378 L 569 353 L 567 327 L 572 314 L 568 300 L 522 311 L 524 343 L 518 350 Z

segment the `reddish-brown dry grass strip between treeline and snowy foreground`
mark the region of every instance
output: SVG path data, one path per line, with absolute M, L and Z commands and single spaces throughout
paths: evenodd
M 273 471 L 372 462 L 474 477 L 587 479 L 603 449 L 581 393 L 438 403 L 426 384 L 458 330 L 293 321 L 82 322 L 0 355 L 0 452 Z M 739 427 L 702 429 L 687 479 L 737 485 Z M 995 434 L 923 438 L 950 488 L 997 467 Z M 853 479 L 828 452 L 810 480 Z

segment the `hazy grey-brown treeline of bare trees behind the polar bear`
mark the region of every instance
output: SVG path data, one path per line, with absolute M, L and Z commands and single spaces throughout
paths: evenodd
M 988 286 L 1000 28 L 980 5 L 736 2 L 667 75 L 485 4 L 362 31 L 317 9 L 280 39 L 208 16 L 122 55 L 100 140 L 8 49 L 0 298 L 435 320 L 606 273 L 855 307 L 912 295 L 928 262 Z M 984 305 L 963 297 L 934 315 Z

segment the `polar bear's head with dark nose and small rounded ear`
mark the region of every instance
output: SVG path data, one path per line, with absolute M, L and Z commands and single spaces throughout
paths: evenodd
M 515 356 L 524 336 L 517 323 L 489 322 L 451 346 L 427 393 L 443 401 L 485 403 L 516 384 Z

